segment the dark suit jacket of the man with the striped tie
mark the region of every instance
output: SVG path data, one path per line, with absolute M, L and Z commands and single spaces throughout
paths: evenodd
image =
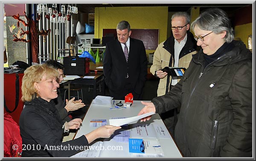
M 147 56 L 142 41 L 130 38 L 128 62 L 118 40 L 106 45 L 103 58 L 103 73 L 110 90 L 122 90 L 128 80 L 134 91 L 141 94 L 147 76 Z

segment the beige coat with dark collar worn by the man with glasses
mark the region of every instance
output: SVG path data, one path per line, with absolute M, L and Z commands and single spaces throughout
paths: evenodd
M 150 72 L 156 76 L 156 71 L 165 67 L 173 67 L 174 65 L 174 37 L 169 37 L 166 41 L 161 42 L 154 52 L 153 65 L 151 65 Z M 196 54 L 196 42 L 191 32 L 187 31 L 186 44 L 180 51 L 178 67 L 188 68 L 192 59 L 192 54 Z M 170 62 L 171 61 L 171 62 Z M 169 78 L 168 78 L 169 77 Z M 168 79 L 168 80 L 167 80 Z M 166 76 L 160 79 L 157 96 L 162 96 L 169 92 L 172 76 Z M 179 81 L 180 79 L 178 79 Z

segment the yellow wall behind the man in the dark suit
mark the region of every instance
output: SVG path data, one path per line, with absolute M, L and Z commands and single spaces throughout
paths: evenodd
M 102 38 L 103 28 L 113 29 L 126 20 L 131 29 L 159 29 L 158 42 L 166 40 L 168 7 L 96 7 L 94 37 Z M 146 50 L 152 53 L 154 50 Z

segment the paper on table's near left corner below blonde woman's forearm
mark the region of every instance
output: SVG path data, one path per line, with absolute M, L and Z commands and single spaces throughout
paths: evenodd
M 94 143 L 93 145 L 89 146 L 89 149 L 81 151 L 75 155 L 72 155 L 71 157 L 99 157 L 99 153 L 102 147 L 103 142 L 98 141 Z

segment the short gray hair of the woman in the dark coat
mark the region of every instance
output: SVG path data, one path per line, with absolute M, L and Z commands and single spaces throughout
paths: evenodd
M 231 27 L 227 13 L 219 8 L 209 8 L 201 13 L 191 24 L 192 31 L 194 31 L 195 25 L 201 30 L 213 31 L 215 34 L 226 31 L 224 40 L 227 43 L 230 43 L 234 39 L 234 30 Z

